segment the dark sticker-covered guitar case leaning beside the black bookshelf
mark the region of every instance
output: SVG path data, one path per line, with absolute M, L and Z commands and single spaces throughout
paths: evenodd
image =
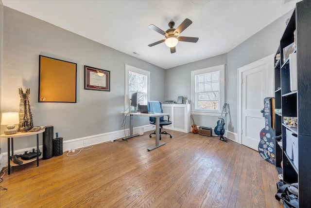
M 260 133 L 258 152 L 260 156 L 271 164 L 276 165 L 276 131 L 272 128 L 274 124 L 274 97 L 266 97 L 263 100 L 264 108 L 260 111 L 264 117 L 265 128 Z

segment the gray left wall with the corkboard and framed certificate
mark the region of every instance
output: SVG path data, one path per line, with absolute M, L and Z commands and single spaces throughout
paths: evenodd
M 18 112 L 18 88 L 30 88 L 34 125 L 52 125 L 54 135 L 59 132 L 64 140 L 121 130 L 124 64 L 150 71 L 156 77 L 150 83 L 150 98 L 164 101 L 162 68 L 5 6 L 3 23 L 2 112 Z M 77 103 L 38 102 L 39 55 L 77 63 Z M 85 90 L 84 65 L 109 70 L 111 91 Z M 148 118 L 135 118 L 135 126 L 146 124 Z M 1 133 L 4 129 L 1 126 Z M 16 142 L 15 149 L 35 146 L 33 140 Z M 6 140 L 1 140 L 0 147 L 7 149 Z

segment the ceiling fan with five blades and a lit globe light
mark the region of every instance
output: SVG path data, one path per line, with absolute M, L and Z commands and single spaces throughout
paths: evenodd
M 176 52 L 175 46 L 177 45 L 178 41 L 184 41 L 184 42 L 197 42 L 199 38 L 193 38 L 193 37 L 178 37 L 181 32 L 183 32 L 189 25 L 192 24 L 192 21 L 190 19 L 185 19 L 176 29 L 173 28 L 175 25 L 174 21 L 169 22 L 169 27 L 167 31 L 163 31 L 157 26 L 151 24 L 148 27 L 155 32 L 158 32 L 165 36 L 166 39 L 156 41 L 154 43 L 149 44 L 148 46 L 152 47 L 154 45 L 157 45 L 159 43 L 165 42 L 165 44 L 170 47 L 171 49 L 171 54 Z

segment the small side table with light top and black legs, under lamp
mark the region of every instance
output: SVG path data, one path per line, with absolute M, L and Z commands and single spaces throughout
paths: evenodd
M 0 138 L 8 138 L 8 175 L 11 174 L 11 164 L 10 164 L 10 144 L 12 147 L 12 156 L 14 155 L 14 141 L 13 141 L 13 137 L 17 138 L 17 137 L 24 137 L 24 136 L 30 136 L 30 135 L 35 135 L 37 134 L 37 167 L 39 166 L 39 133 L 43 133 L 45 132 L 45 129 L 42 129 L 40 131 L 37 132 L 23 132 L 23 133 L 14 133 L 14 134 L 1 134 Z M 11 141 L 10 141 L 11 138 Z M 26 160 L 28 161 L 28 160 Z M 30 162 L 32 162 L 33 160 L 31 160 Z M 26 164 L 25 162 L 23 162 L 23 164 Z

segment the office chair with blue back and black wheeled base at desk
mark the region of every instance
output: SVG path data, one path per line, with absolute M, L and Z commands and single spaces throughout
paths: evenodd
M 150 101 L 150 102 L 148 102 L 147 108 L 148 108 L 148 112 L 163 113 L 162 103 L 159 102 L 159 101 Z M 160 123 L 159 123 L 159 126 L 160 126 L 160 140 L 161 140 L 161 134 L 168 134 L 168 135 L 170 135 L 170 138 L 172 138 L 172 135 L 169 134 L 168 132 L 166 132 L 166 131 L 161 132 L 161 129 L 163 128 L 163 126 L 172 124 L 172 121 L 170 121 L 170 117 L 171 116 L 167 115 L 167 117 L 168 117 L 167 120 L 164 120 L 164 116 L 160 117 Z M 150 122 L 150 124 L 154 124 L 155 125 L 155 117 L 150 117 L 149 118 L 149 122 Z M 155 134 L 155 132 L 153 132 L 151 134 Z M 149 135 L 150 138 L 151 138 L 151 134 Z

